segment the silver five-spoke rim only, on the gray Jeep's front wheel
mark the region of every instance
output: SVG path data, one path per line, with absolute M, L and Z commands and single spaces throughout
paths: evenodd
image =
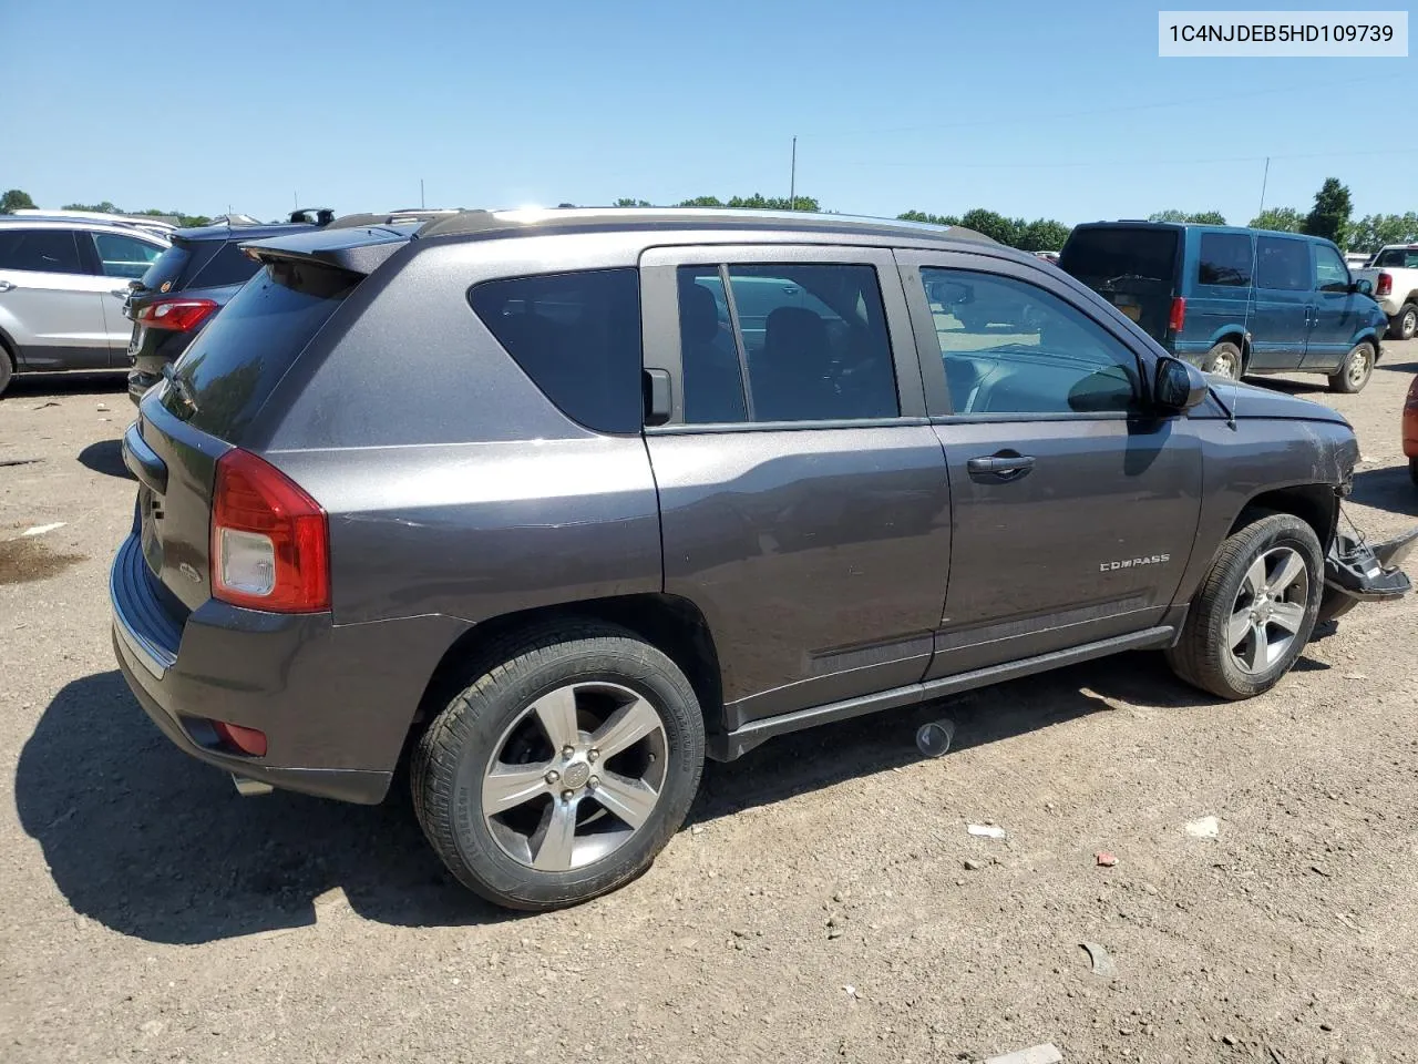
M 1305 624 L 1310 575 L 1300 552 L 1289 546 L 1266 550 L 1246 569 L 1227 645 L 1245 672 L 1265 672 L 1285 657 Z

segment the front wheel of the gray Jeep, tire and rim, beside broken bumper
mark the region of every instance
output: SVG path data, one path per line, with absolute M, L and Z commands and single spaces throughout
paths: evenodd
M 1221 545 L 1167 663 L 1219 698 L 1269 691 L 1309 643 L 1323 572 L 1314 529 L 1290 514 L 1258 514 Z

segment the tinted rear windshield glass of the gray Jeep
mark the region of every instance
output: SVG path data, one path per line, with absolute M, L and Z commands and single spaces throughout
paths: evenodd
M 360 279 L 312 262 L 267 265 L 197 333 L 176 365 L 187 387 L 169 387 L 163 404 L 204 433 L 241 443 L 277 383 Z

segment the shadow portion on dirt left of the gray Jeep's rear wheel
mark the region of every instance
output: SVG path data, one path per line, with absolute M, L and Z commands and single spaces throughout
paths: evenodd
M 505 919 L 424 843 L 407 789 L 383 806 L 231 780 L 177 750 L 118 671 L 64 687 L 20 752 L 16 807 L 75 912 L 152 942 L 299 928 L 342 888 L 359 915 L 404 926 Z

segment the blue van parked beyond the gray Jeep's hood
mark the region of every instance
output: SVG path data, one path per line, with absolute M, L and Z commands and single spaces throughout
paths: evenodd
M 1383 355 L 1370 285 L 1319 237 L 1100 221 L 1073 228 L 1059 265 L 1208 373 L 1323 373 L 1358 392 Z

